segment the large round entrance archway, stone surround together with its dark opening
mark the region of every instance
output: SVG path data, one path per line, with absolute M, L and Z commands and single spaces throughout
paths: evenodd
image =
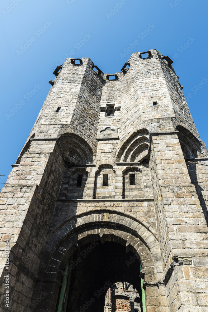
M 69 261 L 72 269 L 64 272 Z M 38 311 L 57 311 L 60 298 L 66 303 L 66 312 L 79 312 L 91 298 L 99 299 L 92 302 L 93 309 L 103 311 L 108 285 L 118 281 L 134 285 L 141 295 L 140 265 L 146 301 L 143 306 L 146 305 L 147 312 L 152 306 L 162 311 L 160 308 L 166 305 L 165 292 L 154 229 L 128 212 L 111 208 L 76 214 L 54 228 L 48 237 L 39 272 L 42 282 L 37 282 L 35 290 L 36 294 L 42 291 L 47 296 Z M 70 284 L 67 284 L 69 278 Z M 61 293 L 64 279 L 65 288 Z M 159 292 L 159 288 L 163 291 Z M 96 298 L 97 290 L 101 292 L 99 298 Z

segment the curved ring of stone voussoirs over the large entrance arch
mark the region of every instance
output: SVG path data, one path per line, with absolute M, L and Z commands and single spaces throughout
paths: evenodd
M 114 241 L 123 246 L 130 245 L 130 251 L 138 256 L 143 268 L 155 266 L 158 261 L 159 245 L 154 230 L 134 215 L 113 209 L 84 211 L 62 222 L 48 236 L 49 241 L 43 256 L 45 272 L 64 270 L 69 257 L 90 241 Z M 157 280 L 157 272 L 154 274 Z

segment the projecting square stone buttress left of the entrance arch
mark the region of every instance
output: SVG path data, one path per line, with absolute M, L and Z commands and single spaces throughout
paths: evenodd
M 1 192 L 4 226 L 1 228 L 1 250 L 4 250 L 5 234 L 9 234 L 11 248 L 10 308 L 5 309 L 9 311 L 26 311 L 30 307 L 45 237 L 63 176 L 62 158 L 54 142 L 33 141 L 32 147 L 35 145 L 36 153 L 24 154 L 19 166 L 12 170 L 10 186 L 5 186 Z M 4 265 L 5 258 L 2 257 L 1 273 Z M 1 289 L 5 285 L 3 276 Z

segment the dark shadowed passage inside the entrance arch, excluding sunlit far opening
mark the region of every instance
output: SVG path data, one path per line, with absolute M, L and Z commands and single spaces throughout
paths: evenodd
M 69 271 L 66 312 L 103 312 L 106 292 L 118 281 L 134 285 L 141 298 L 140 263 L 119 243 L 96 241 L 84 245 L 73 254 Z

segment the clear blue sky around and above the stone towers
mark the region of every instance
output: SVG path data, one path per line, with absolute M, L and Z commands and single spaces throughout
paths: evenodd
M 208 144 L 208 81 L 200 85 L 208 78 L 207 8 L 207 0 L 2 0 L 0 174 L 10 173 L 50 90 L 56 65 L 72 50 L 72 57 L 90 57 L 105 73 L 119 72 L 133 52 L 155 48 L 168 55 L 201 139 Z M 143 37 L 149 24 L 153 29 Z M 135 40 L 139 44 L 123 56 Z M 10 110 L 15 110 L 12 117 L 7 116 Z

